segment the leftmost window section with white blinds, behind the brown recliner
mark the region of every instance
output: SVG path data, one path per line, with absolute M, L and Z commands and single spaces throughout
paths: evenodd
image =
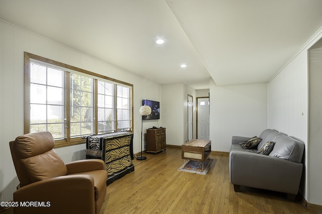
M 30 63 L 30 132 L 47 130 L 63 138 L 64 72 Z

